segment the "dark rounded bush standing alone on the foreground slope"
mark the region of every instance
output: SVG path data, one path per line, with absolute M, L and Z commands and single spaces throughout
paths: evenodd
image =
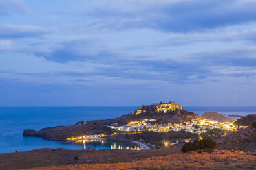
M 206 138 L 206 139 L 202 139 L 202 140 L 195 140 L 193 143 L 189 142 L 186 143 L 181 151 L 186 153 L 188 151 L 209 151 L 211 149 L 215 149 L 216 148 L 216 142 L 213 141 L 213 139 L 211 138 Z

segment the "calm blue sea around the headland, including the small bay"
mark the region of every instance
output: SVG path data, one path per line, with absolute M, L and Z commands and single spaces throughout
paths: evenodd
M 123 114 L 129 114 L 139 106 L 74 106 L 74 107 L 0 107 L 0 153 L 10 153 L 16 150 L 63 147 L 66 149 L 111 149 L 137 147 L 134 143 L 116 141 L 86 143 L 62 143 L 48 141 L 36 137 L 23 137 L 24 129 L 41 130 L 45 127 L 58 125 L 74 125 L 78 121 L 112 119 Z M 256 107 L 231 106 L 184 106 L 185 110 L 201 115 L 204 112 L 219 112 L 225 116 L 238 114 L 246 116 L 255 114 Z

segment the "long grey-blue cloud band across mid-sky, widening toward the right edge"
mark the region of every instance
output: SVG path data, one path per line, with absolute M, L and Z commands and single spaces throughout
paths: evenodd
M 93 58 L 96 58 L 96 63 L 104 64 L 94 66 L 90 70 L 81 68 L 78 71 L 19 74 L 35 77 L 70 77 L 73 82 L 78 83 L 88 80 L 94 82 L 94 80 L 105 77 L 113 80 L 134 80 L 135 82 L 152 80 L 173 84 L 198 84 L 205 81 L 216 82 L 222 77 L 255 77 L 255 52 L 255 50 L 248 49 L 231 49 L 228 51 L 188 53 L 185 56 L 180 56 L 180 58 L 165 59 L 120 58 L 118 55 L 109 58 L 105 58 L 104 55 L 90 56 L 90 58 L 83 58 L 83 60 L 92 61 Z M 71 59 L 69 58 L 69 60 Z M 67 62 L 67 58 L 63 58 L 61 61 Z

